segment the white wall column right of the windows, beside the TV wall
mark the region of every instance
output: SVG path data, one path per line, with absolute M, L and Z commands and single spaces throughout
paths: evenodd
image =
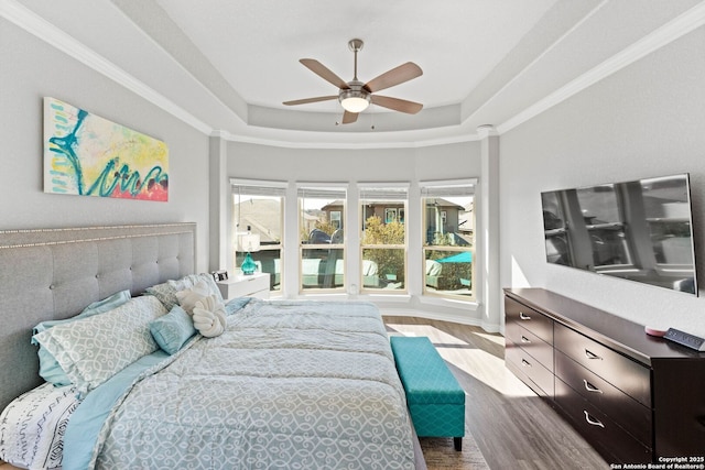
M 499 276 L 499 135 L 490 124 L 478 127 L 477 133 L 481 139 L 481 326 L 488 331 L 497 331 L 502 326 L 502 289 Z

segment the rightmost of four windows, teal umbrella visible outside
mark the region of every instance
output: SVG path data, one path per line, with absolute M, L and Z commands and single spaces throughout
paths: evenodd
M 475 298 L 475 182 L 421 184 L 424 294 Z

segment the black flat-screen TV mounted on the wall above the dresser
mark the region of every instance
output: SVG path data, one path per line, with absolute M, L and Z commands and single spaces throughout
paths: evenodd
M 546 260 L 697 295 L 688 174 L 541 194 Z

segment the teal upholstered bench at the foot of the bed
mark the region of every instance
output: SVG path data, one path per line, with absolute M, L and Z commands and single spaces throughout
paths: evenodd
M 452 437 L 462 450 L 465 391 L 429 338 L 392 336 L 390 342 L 416 435 Z

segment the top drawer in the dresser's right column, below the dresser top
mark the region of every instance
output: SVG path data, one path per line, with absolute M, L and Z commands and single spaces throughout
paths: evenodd
M 651 370 L 561 324 L 555 325 L 555 349 L 651 407 Z

